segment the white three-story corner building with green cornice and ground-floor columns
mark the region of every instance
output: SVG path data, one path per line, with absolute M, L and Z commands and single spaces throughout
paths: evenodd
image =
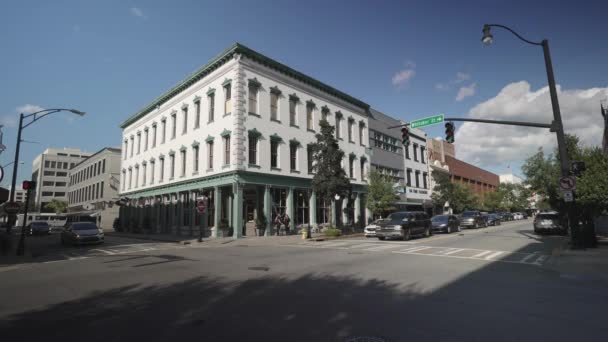
M 208 225 L 252 233 L 264 213 L 294 224 L 364 222 L 369 105 L 243 45 L 235 44 L 122 125 L 121 224 L 192 233 L 194 203 L 209 199 Z M 321 119 L 336 127 L 352 184 L 325 202 L 311 189 Z M 337 215 L 336 215 L 337 214 Z

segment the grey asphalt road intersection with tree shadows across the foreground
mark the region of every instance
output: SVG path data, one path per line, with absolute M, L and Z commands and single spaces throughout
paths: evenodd
M 0 268 L 2 337 L 605 341 L 608 334 L 608 284 L 552 269 L 564 237 L 534 235 L 531 220 L 412 241 L 256 241 L 108 238 L 80 257 Z

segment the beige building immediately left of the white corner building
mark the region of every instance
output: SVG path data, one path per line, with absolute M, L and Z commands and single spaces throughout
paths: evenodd
M 92 216 L 100 228 L 112 228 L 119 210 L 113 204 L 120 189 L 120 158 L 120 148 L 106 147 L 70 170 L 68 215 Z

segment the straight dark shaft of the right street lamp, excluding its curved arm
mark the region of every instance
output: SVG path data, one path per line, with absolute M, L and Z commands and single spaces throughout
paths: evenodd
M 549 52 L 549 41 L 543 39 L 541 42 L 543 54 L 545 57 L 545 67 L 547 69 L 547 80 L 549 82 L 549 94 L 551 95 L 551 107 L 553 109 L 553 120 L 556 124 L 555 134 L 557 135 L 557 148 L 559 152 L 560 169 L 562 176 L 570 175 L 570 160 L 568 159 L 568 151 L 566 150 L 566 136 L 564 134 L 564 126 L 562 124 L 562 115 L 559 109 L 559 101 L 557 99 L 557 89 L 555 86 L 555 76 L 553 75 L 553 64 L 551 63 L 551 53 Z M 572 247 L 581 245 L 578 222 L 575 220 L 574 206 L 570 202 L 565 202 L 567 213 L 567 224 L 570 227 L 570 239 Z

